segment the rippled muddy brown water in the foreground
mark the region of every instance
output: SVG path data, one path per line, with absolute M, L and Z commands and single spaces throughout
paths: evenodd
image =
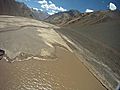
M 58 59 L 0 61 L 0 90 L 106 90 L 76 56 L 57 48 Z

